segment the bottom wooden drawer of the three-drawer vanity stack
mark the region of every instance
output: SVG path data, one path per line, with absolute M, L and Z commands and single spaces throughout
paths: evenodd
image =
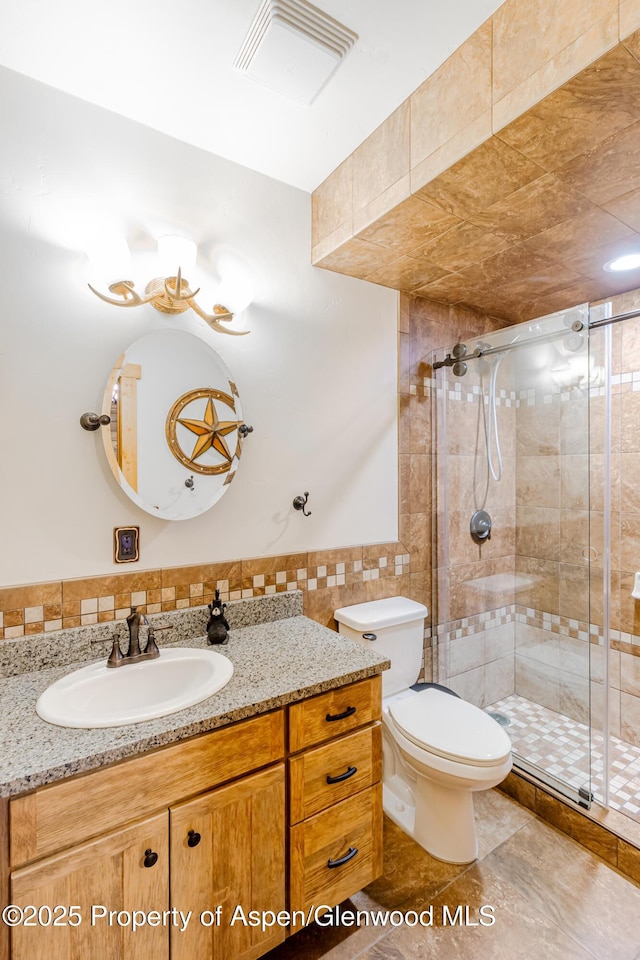
M 292 910 L 335 906 L 382 873 L 382 784 L 291 827 Z

